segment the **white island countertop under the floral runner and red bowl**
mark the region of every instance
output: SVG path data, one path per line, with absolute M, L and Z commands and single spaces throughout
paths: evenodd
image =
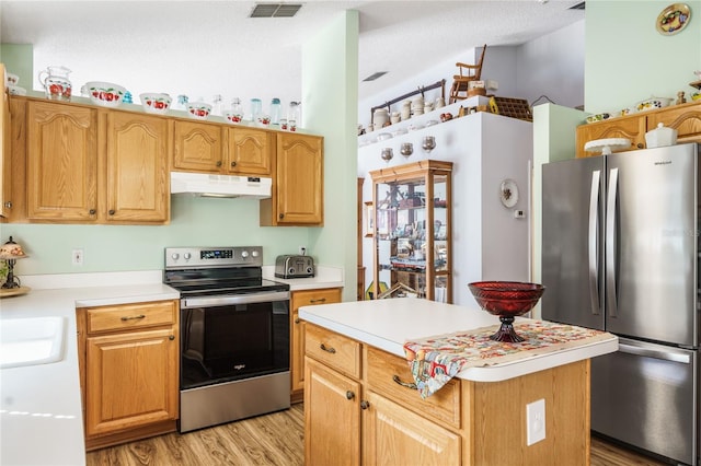
M 496 316 L 473 307 L 401 298 L 304 306 L 299 317 L 360 342 L 404 358 L 404 342 L 499 324 Z M 517 317 L 517 321 L 522 319 Z M 475 382 L 498 382 L 584 359 L 614 352 L 618 338 L 513 362 L 469 368 L 457 376 Z

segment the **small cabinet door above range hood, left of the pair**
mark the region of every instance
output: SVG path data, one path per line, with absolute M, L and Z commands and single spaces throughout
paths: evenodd
M 221 170 L 221 127 L 195 121 L 175 121 L 173 168 L 192 172 Z

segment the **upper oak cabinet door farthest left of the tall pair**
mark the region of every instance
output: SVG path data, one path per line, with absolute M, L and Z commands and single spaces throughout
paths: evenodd
M 97 219 L 97 112 L 27 103 L 27 218 Z

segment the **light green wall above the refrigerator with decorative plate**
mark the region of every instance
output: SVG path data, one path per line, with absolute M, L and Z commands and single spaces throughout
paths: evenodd
M 685 1 L 691 21 L 665 36 L 655 24 L 668 0 L 587 0 L 585 20 L 585 109 L 628 108 L 651 95 L 687 98 L 701 69 L 701 1 Z

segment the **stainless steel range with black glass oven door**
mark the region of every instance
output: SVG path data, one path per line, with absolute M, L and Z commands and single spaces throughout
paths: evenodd
M 263 248 L 168 247 L 181 292 L 180 432 L 290 406 L 289 286 L 262 277 Z

